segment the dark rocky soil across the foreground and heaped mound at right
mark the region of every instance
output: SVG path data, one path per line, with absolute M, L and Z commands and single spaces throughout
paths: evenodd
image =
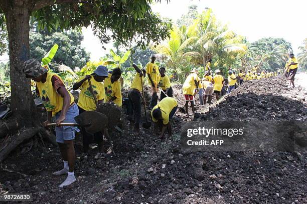
M 32 193 L 32 203 L 307 203 L 305 151 L 186 152 L 180 145 L 181 128 L 192 121 L 307 120 L 307 90 L 279 81 L 246 82 L 210 106 L 197 105 L 194 117 L 178 111 L 165 140 L 152 129 L 135 135 L 126 122 L 111 133 L 116 154 L 95 159 L 93 144 L 86 158 L 77 136 L 77 182 L 63 189 L 57 185 L 65 176 L 52 175 L 62 167 L 57 147 L 15 152 L 2 163 L 1 193 Z M 180 85 L 173 88 L 181 107 Z

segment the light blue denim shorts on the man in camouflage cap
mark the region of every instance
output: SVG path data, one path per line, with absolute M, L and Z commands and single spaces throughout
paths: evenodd
M 76 103 L 71 105 L 67 112 L 66 118 L 63 122 L 76 123 L 74 117 L 79 114 L 79 109 Z M 61 111 L 56 113 L 56 119 L 58 119 L 61 115 Z M 80 131 L 78 127 L 74 126 L 56 126 L 56 136 L 57 142 L 64 143 L 64 140 L 72 140 L 75 138 L 76 131 Z

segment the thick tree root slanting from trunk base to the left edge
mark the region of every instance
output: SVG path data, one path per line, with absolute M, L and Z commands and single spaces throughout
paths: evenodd
M 21 128 L 16 134 L 10 136 L 10 138 L 2 144 L 0 147 L 0 161 L 3 161 L 19 144 L 32 138 L 39 131 L 42 131 L 43 127 L 24 127 Z

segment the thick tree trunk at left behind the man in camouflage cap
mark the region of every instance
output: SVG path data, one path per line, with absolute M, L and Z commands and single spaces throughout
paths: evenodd
M 5 11 L 9 35 L 11 109 L 18 121 L 30 126 L 33 121 L 34 101 L 31 81 L 23 72 L 23 63 L 29 59 L 30 53 L 30 10 L 22 0 L 16 0 L 12 4 L 8 5 Z

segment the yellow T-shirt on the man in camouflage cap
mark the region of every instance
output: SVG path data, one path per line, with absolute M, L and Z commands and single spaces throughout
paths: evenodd
M 52 76 L 57 76 L 63 82 L 63 79 L 53 72 L 47 72 L 47 78 L 45 83 L 36 82 L 37 88 L 40 92 L 40 96 L 43 100 L 44 106 L 47 111 L 52 111 L 52 116 L 62 110 L 63 107 L 63 97 L 54 89 L 51 78 Z M 64 83 L 64 82 L 63 82 Z M 74 96 L 68 91 L 70 95 L 70 104 L 74 102 Z

